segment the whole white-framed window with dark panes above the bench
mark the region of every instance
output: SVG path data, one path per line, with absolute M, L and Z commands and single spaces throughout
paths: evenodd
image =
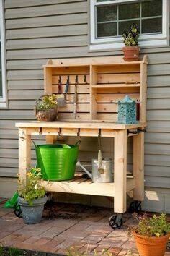
M 91 50 L 122 48 L 122 33 L 133 23 L 139 45 L 168 46 L 169 0 L 91 0 Z

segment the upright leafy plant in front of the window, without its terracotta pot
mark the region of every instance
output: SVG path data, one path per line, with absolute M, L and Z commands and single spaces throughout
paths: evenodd
M 125 46 L 138 46 L 139 29 L 137 24 L 133 24 L 127 32 L 124 30 L 122 34 Z

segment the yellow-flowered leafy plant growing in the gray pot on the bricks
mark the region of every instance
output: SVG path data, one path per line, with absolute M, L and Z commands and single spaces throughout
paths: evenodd
M 42 186 L 41 176 L 42 174 L 40 168 L 31 168 L 29 171 L 27 171 L 26 183 L 24 183 L 19 176 L 19 197 L 27 200 L 29 205 L 33 204 L 33 200 L 45 196 L 45 187 Z

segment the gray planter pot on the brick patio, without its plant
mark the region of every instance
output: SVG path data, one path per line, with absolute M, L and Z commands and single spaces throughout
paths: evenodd
M 42 212 L 47 200 L 48 197 L 45 195 L 45 197 L 35 199 L 33 205 L 29 205 L 24 198 L 18 197 L 18 203 L 21 207 L 22 217 L 25 224 L 36 224 L 41 221 Z

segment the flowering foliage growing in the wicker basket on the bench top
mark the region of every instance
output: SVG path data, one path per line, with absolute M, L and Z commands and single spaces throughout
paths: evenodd
M 37 101 L 37 109 L 55 108 L 58 105 L 57 95 L 43 95 Z

